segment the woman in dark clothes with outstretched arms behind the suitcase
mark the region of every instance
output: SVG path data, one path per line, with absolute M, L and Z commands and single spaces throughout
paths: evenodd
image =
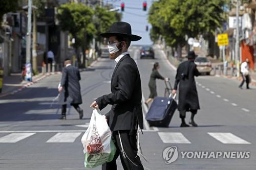
M 153 66 L 152 73 L 150 75 L 150 82 L 148 82 L 148 87 L 150 88 L 150 96 L 148 99 L 145 101 L 146 106 L 148 107 L 148 104 L 150 104 L 154 98 L 157 96 L 157 84 L 156 84 L 156 79 L 161 79 L 164 81 L 168 81 L 168 78 L 162 77 L 158 69 L 160 68 L 160 65 L 158 62 L 156 62 Z

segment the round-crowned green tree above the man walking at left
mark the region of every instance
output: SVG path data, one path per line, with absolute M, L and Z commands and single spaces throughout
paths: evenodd
M 88 40 L 95 34 L 95 27 L 92 23 L 94 11 L 82 3 L 69 3 L 61 5 L 57 12 L 61 30 L 69 31 L 75 38 L 73 46 L 78 64 L 81 66 L 79 48 L 87 46 Z

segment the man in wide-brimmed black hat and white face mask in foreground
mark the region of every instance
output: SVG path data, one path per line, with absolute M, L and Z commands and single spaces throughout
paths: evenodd
M 143 166 L 137 155 L 137 129 L 143 129 L 141 108 L 141 81 L 138 67 L 127 52 L 131 41 L 141 37 L 132 34 L 129 23 L 115 22 L 110 32 L 101 36 L 109 39 L 110 59 L 115 60 L 115 69 L 111 79 L 111 93 L 96 99 L 91 107 L 103 109 L 112 105 L 106 115 L 112 131 L 117 152 L 113 161 L 102 165 L 102 169 L 117 169 L 116 159 L 120 159 L 125 170 L 141 170 Z

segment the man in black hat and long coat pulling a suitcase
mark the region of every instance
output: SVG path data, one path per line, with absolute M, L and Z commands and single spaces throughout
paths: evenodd
M 189 124 L 197 127 L 194 121 L 194 116 L 197 114 L 197 110 L 200 109 L 197 87 L 195 82 L 195 76 L 199 76 L 197 65 L 194 63 L 196 55 L 193 51 L 188 53 L 188 61 L 181 63 L 177 69 L 176 81 L 174 85 L 173 94 L 176 93 L 178 84 L 179 85 L 179 105 L 178 110 L 180 111 L 181 126 L 189 127 L 185 122 L 186 112 L 191 112 L 191 118 Z

